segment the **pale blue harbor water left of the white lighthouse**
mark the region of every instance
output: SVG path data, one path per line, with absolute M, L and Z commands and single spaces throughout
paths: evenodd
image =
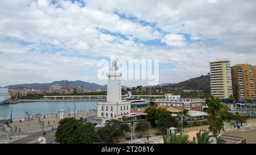
M 74 104 L 75 103 L 75 104 Z M 11 108 L 13 107 L 13 110 Z M 97 101 L 81 102 L 28 102 L 17 104 L 0 104 L 0 120 L 12 118 L 24 118 L 26 112 L 29 114 L 56 114 L 60 110 L 64 112 L 89 111 L 97 109 Z

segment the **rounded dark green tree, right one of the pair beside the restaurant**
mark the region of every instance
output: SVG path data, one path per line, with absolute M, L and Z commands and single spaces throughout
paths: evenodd
M 172 117 L 172 115 L 168 112 L 162 112 L 158 116 L 158 127 L 160 128 L 171 128 L 177 127 L 177 120 Z

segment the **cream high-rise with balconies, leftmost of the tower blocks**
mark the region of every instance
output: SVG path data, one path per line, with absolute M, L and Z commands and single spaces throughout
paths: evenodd
M 227 99 L 233 95 L 229 61 L 210 62 L 210 94 L 220 99 Z

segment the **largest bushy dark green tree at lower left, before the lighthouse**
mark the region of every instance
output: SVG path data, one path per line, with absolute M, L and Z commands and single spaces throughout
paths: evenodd
M 98 140 L 94 129 L 86 119 L 64 118 L 59 122 L 55 141 L 60 144 L 91 144 Z

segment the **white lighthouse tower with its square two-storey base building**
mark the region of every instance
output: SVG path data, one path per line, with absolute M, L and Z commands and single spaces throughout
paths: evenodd
M 118 72 L 117 61 L 112 62 L 108 75 L 108 93 L 106 102 L 98 102 L 98 118 L 109 118 L 130 114 L 131 103 L 122 102 L 122 74 Z

